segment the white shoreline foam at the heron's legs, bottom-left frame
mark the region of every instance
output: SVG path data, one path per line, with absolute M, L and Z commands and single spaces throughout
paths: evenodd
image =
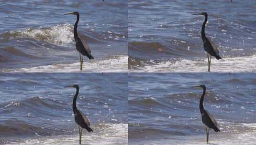
M 128 124 L 104 124 L 107 127 L 82 135 L 82 145 L 128 145 Z M 79 135 L 57 135 L 21 139 L 6 145 L 78 145 Z

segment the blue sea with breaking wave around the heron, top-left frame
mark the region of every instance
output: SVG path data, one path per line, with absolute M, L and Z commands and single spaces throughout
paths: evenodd
M 4 0 L 0 7 L 1 72 L 79 71 L 76 16 L 64 15 L 72 11 L 95 58 L 84 59 L 84 72 L 127 70 L 127 0 Z

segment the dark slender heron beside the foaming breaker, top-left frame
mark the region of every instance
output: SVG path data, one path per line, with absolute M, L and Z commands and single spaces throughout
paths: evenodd
M 83 69 L 83 56 L 87 56 L 90 60 L 94 59 L 93 56 L 91 55 L 91 50 L 89 48 L 89 45 L 78 37 L 78 21 L 79 21 L 79 12 L 71 12 L 71 13 L 66 13 L 65 15 L 76 15 L 77 16 L 77 21 L 74 26 L 74 37 L 76 41 L 76 49 L 79 52 L 79 57 L 80 57 L 80 70 Z M 82 54 L 82 56 L 81 56 Z

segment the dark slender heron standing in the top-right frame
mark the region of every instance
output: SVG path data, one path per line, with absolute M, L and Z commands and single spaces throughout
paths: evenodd
M 213 43 L 213 41 L 211 41 L 211 39 L 208 39 L 205 36 L 205 25 L 207 22 L 207 18 L 208 18 L 208 14 L 206 12 L 202 12 L 202 13 L 196 13 L 193 15 L 203 15 L 205 17 L 204 22 L 202 24 L 202 30 L 201 30 L 201 37 L 203 40 L 203 47 L 204 47 L 204 51 L 207 52 L 207 57 L 208 57 L 208 72 L 211 71 L 211 56 L 214 56 L 217 60 L 222 59 L 219 55 L 219 49 L 217 48 L 217 46 Z

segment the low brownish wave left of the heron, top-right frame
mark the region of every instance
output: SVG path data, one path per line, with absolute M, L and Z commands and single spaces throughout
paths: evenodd
M 177 59 L 190 57 L 191 54 L 196 56 L 198 55 L 198 50 L 191 50 L 190 48 L 197 46 L 192 42 L 177 38 L 168 39 L 167 42 L 132 41 L 128 43 L 129 55 L 140 59 Z

